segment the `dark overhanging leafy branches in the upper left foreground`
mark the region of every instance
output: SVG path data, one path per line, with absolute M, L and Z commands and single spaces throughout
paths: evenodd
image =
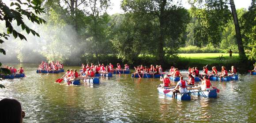
M 16 21 L 18 26 L 21 26 L 22 30 L 26 30 L 26 33 L 32 33 L 34 36 L 39 36 L 37 32 L 33 29 L 30 29 L 24 22 L 23 18 L 28 18 L 31 22 L 37 24 L 45 23 L 45 20 L 40 18 L 38 14 L 44 13 L 44 8 L 41 7 L 41 0 L 27 0 L 26 2 L 21 2 L 21 0 L 14 0 L 11 2 L 10 6 L 15 7 L 15 9 L 9 8 L 6 4 L 0 0 L 0 21 L 5 22 L 7 32 L 0 33 L 0 43 L 4 43 L 4 40 L 8 40 L 10 34 L 14 36 L 14 38 L 19 37 L 20 40 L 26 40 L 26 37 L 17 32 L 16 29 L 13 28 L 12 22 Z M 26 9 L 23 9 L 26 7 Z M 3 39 L 4 38 L 4 39 Z M 0 53 L 5 55 L 4 49 L 0 48 Z M 0 66 L 2 64 L 0 63 Z M 6 68 L 0 68 L 0 73 L 8 74 L 10 71 Z M 2 87 L 2 85 L 0 85 Z

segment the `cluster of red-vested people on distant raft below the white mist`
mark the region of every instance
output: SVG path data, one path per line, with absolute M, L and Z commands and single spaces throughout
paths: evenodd
M 52 61 L 50 63 L 47 63 L 46 61 L 42 61 L 41 65 L 39 65 L 38 70 L 47 70 L 47 71 L 58 71 L 59 69 L 63 69 L 63 64 L 60 63 L 60 61 Z

